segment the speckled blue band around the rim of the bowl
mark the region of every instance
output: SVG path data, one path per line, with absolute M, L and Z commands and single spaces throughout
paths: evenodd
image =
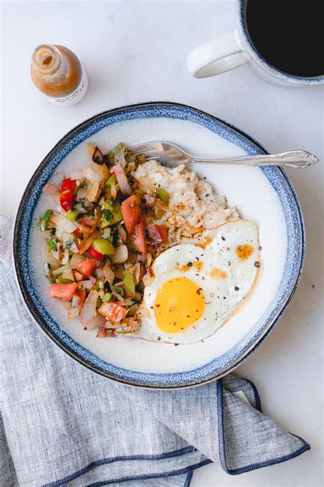
M 51 338 L 72 358 L 75 358 L 92 371 L 123 384 L 145 388 L 185 388 L 218 379 L 245 360 L 273 329 L 295 292 L 303 266 L 305 251 L 303 217 L 295 190 L 288 176 L 281 168 L 270 166 L 260 168 L 280 198 L 288 234 L 286 269 L 277 295 L 270 307 L 271 309 L 262 316 L 256 331 L 247 334 L 241 342 L 224 353 L 224 355 L 193 371 L 163 374 L 130 371 L 105 362 L 105 360 L 98 358 L 94 353 L 79 345 L 59 328 L 59 325 L 53 321 L 49 313 L 44 309 L 31 282 L 27 255 L 29 229 L 42 187 L 65 156 L 86 138 L 108 125 L 131 119 L 162 117 L 177 118 L 203 125 L 211 132 L 238 145 L 250 155 L 267 153 L 256 140 L 237 129 L 237 127 L 206 112 L 202 112 L 202 110 L 180 103 L 168 101 L 137 103 L 97 114 L 77 125 L 59 140 L 42 160 L 27 184 L 14 223 L 14 269 L 23 301 L 25 301 L 27 310 L 29 310 L 32 318 L 38 323 L 46 336 Z

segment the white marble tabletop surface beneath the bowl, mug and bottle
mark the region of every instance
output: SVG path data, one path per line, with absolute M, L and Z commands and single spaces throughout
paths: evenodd
M 193 79 L 186 54 L 234 27 L 233 1 L 2 2 L 1 210 L 14 214 L 44 155 L 85 118 L 126 103 L 188 103 L 241 127 L 267 149 L 302 148 L 323 160 L 323 88 L 280 88 L 243 66 Z M 33 47 L 70 47 L 87 70 L 81 103 L 59 108 L 29 78 Z M 208 465 L 193 487 L 322 485 L 323 161 L 288 171 L 306 223 L 306 265 L 280 323 L 237 373 L 258 386 L 263 408 L 312 447 L 298 458 L 243 475 Z M 274 249 L 275 251 L 275 249 Z

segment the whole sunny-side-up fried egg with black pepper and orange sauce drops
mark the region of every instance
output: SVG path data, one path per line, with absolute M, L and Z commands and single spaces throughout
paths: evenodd
M 152 265 L 141 327 L 132 338 L 189 344 L 213 335 L 239 311 L 260 272 L 258 227 L 230 221 L 198 243 L 167 249 Z

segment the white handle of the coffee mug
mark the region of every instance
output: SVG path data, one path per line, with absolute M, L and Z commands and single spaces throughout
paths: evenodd
M 228 32 L 196 47 L 187 56 L 187 68 L 195 78 L 219 75 L 247 64 L 237 40 L 237 31 Z

